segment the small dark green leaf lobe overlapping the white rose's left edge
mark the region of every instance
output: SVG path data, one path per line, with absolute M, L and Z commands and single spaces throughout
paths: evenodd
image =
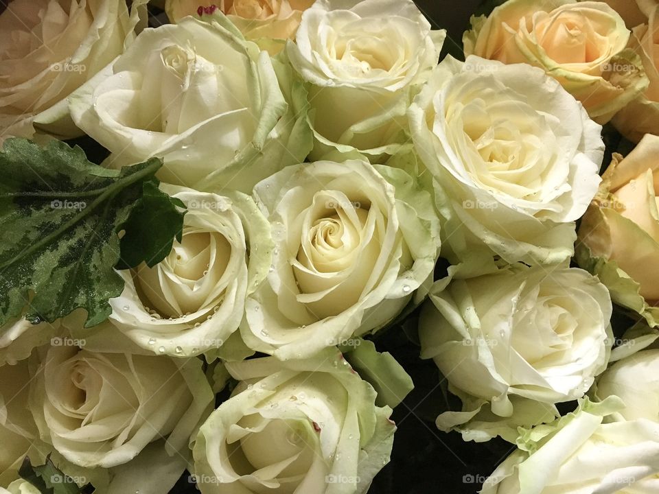
M 165 259 L 172 250 L 174 236 L 181 242 L 185 204 L 170 198 L 153 182 L 144 183 L 141 200 L 132 209 L 124 225 L 121 259 L 117 269 L 136 268 L 145 262 L 149 268 Z

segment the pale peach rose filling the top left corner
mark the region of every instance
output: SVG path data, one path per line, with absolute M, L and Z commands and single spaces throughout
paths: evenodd
M 0 14 L 0 141 L 35 130 L 81 135 L 67 96 L 124 52 L 145 4 L 129 12 L 124 0 L 11 1 Z

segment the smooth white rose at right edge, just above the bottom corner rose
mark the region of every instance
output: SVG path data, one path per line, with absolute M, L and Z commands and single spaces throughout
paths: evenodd
M 616 362 L 597 379 L 598 399 L 617 396 L 625 408 L 619 420 L 659 421 L 659 350 L 645 350 Z

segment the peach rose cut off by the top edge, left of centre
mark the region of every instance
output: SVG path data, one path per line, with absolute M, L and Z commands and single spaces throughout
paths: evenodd
M 167 0 L 165 10 L 174 23 L 185 16 L 203 16 L 220 10 L 245 38 L 275 53 L 284 48 L 284 40 L 295 37 L 302 12 L 313 3 L 314 0 L 216 0 L 215 3 L 213 0 Z

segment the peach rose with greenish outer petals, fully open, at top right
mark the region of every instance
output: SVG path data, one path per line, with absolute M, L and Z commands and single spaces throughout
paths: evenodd
M 632 0 L 629 0 L 632 1 Z M 629 30 L 601 1 L 509 0 L 472 19 L 465 54 L 544 69 L 599 124 L 647 88 Z

